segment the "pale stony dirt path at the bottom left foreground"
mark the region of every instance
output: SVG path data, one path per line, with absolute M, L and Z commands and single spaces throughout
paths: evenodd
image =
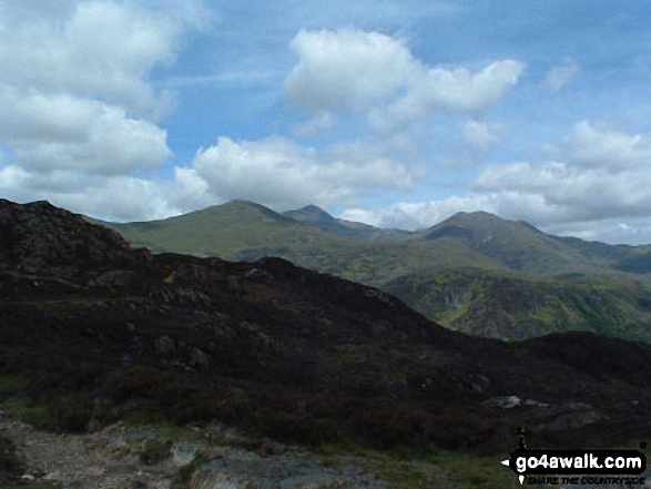
M 63 489 L 170 489 L 181 467 L 196 454 L 203 454 L 205 461 L 197 466 L 192 489 L 387 487 L 364 470 L 363 457 L 335 456 L 324 462 L 306 450 L 274 442 L 256 445 L 220 429 L 217 435 L 214 429 L 187 429 L 191 439 L 176 437 L 175 441 L 169 429 L 124 424 L 93 434 L 52 434 L 0 411 L 0 437 L 12 440 L 24 460 L 23 479 L 52 481 Z M 141 454 L 152 440 L 165 447 L 167 457 L 145 465 Z

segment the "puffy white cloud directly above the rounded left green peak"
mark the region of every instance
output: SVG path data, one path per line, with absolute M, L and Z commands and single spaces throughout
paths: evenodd
M 283 137 L 241 143 L 220 137 L 197 152 L 193 167 L 220 200 L 247 198 L 274 208 L 352 202 L 369 190 L 408 189 L 418 176 L 387 157 L 326 159 Z

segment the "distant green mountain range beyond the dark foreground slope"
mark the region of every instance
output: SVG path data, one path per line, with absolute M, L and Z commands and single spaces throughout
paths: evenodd
M 478 336 L 591 330 L 651 342 L 651 246 L 553 236 L 485 212 L 406 232 L 338 220 L 314 205 L 276 213 L 246 201 L 102 224 L 155 253 L 282 257 L 377 287 Z

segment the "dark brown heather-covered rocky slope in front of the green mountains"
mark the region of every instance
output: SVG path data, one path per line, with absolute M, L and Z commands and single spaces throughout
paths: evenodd
M 557 444 L 651 435 L 645 344 L 475 338 L 284 259 L 133 251 L 43 202 L 0 201 L 0 367 L 32 378 L 55 426 L 157 411 L 311 442 L 484 450 L 511 447 L 519 425 Z

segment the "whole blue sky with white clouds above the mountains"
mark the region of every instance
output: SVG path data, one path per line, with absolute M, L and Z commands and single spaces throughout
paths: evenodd
M 651 243 L 648 0 L 0 0 L 0 197 Z

